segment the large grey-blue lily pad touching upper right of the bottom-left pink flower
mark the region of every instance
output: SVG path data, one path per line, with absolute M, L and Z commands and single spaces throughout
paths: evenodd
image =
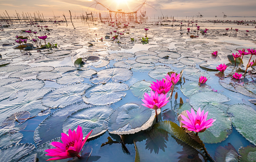
M 83 128 L 83 134 L 87 135 L 91 130 L 89 138 L 96 137 L 107 131 L 107 119 L 113 109 L 107 106 L 94 106 L 85 108 L 68 116 L 63 123 L 63 132 L 76 130 L 80 125 Z

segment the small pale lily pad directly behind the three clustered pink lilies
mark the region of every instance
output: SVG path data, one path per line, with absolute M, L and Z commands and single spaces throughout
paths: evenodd
M 156 67 L 155 69 L 148 72 L 148 75 L 153 79 L 163 79 L 167 75 L 168 72 L 175 70 L 172 70 L 170 67 Z

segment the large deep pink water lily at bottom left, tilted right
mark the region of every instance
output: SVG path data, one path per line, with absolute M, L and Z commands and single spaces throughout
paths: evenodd
M 67 159 L 72 157 L 78 157 L 81 158 L 79 155 L 79 152 L 82 150 L 82 148 L 85 145 L 86 140 L 90 136 L 92 130 L 87 134 L 85 139 L 83 140 L 83 132 L 82 127 L 78 125 L 77 132 L 75 130 L 72 132 L 71 129 L 68 130 L 68 135 L 65 133 L 61 133 L 61 142 L 52 142 L 50 143 L 52 146 L 56 148 L 45 150 L 47 152 L 48 156 L 55 157 L 50 158 L 47 161 L 54 161 L 54 160 L 60 160 L 60 159 Z

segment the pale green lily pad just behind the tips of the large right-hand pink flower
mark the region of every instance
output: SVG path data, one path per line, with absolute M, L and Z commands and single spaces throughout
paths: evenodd
M 191 95 L 189 103 L 195 109 L 199 107 L 203 109 L 206 105 L 219 106 L 221 103 L 228 102 L 229 100 L 227 96 L 221 93 L 206 91 Z

